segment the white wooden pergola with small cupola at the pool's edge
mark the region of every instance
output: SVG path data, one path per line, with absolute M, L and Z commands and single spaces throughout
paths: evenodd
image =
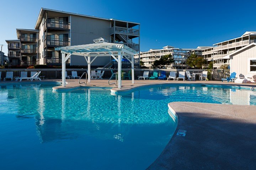
M 75 45 L 66 47 L 57 47 L 55 50 L 60 50 L 62 53 L 62 86 L 66 86 L 66 61 L 71 55 L 84 56 L 88 64 L 88 82 L 91 82 L 91 63 L 97 57 L 112 56 L 118 63 L 118 89 L 121 89 L 121 68 L 122 58 L 125 57 L 132 63 L 132 83 L 134 84 L 134 55 L 137 53 L 135 50 L 123 44 L 108 43 L 107 40 L 99 38 L 94 40 L 94 44 Z M 73 56 L 75 57 L 75 56 Z

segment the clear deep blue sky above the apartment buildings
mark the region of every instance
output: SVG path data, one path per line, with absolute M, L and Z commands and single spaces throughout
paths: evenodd
M 16 28 L 34 29 L 39 11 L 44 7 L 139 22 L 141 51 L 166 45 L 180 48 L 212 46 L 246 31 L 256 31 L 255 6 L 255 0 L 6 0 L 1 2 L 0 9 L 0 44 L 5 45 L 3 52 L 7 53 L 5 40 L 17 39 Z

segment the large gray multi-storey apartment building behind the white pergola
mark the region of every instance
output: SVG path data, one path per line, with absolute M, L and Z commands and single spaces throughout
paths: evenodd
M 54 50 L 55 47 L 91 44 L 97 38 L 140 51 L 140 23 L 46 8 L 41 8 L 34 29 L 17 29 L 17 37 L 20 40 L 21 65 L 61 64 L 61 54 Z M 12 53 L 11 49 L 9 52 Z M 111 60 L 111 56 L 98 57 L 92 65 L 104 67 Z M 84 57 L 71 56 L 67 63 L 87 65 Z

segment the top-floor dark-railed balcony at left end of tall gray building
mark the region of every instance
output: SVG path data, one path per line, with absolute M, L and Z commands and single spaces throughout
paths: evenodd
M 47 19 L 44 21 L 44 31 L 46 28 L 48 31 L 69 31 L 70 30 L 70 22 L 63 22 L 63 21 L 50 21 Z

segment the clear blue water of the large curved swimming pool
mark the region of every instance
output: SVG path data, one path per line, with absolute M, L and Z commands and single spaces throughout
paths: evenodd
M 56 84 L 0 86 L 0 169 L 145 169 L 176 129 L 167 103 L 256 105 L 256 91 L 161 85 L 53 92 Z

